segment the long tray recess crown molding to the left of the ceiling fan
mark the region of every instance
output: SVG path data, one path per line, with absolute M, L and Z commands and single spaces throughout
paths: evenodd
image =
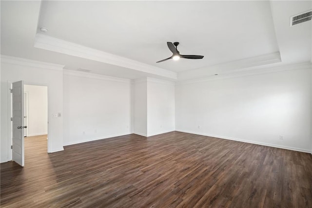
M 162 69 L 146 63 L 137 62 L 114 54 L 106 53 L 73 42 L 63 41 L 39 33 L 36 34 L 34 47 L 93 61 L 117 65 L 125 68 L 130 68 L 166 78 L 171 78 L 175 80 L 177 79 L 176 72 Z

